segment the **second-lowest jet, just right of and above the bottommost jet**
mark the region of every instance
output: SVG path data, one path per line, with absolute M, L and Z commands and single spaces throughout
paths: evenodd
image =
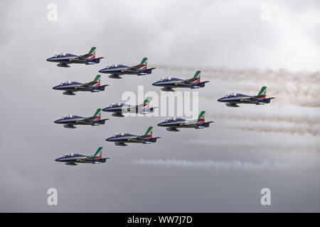
M 129 133 L 118 133 L 113 135 L 110 138 L 107 138 L 106 140 L 109 142 L 114 142 L 117 146 L 127 146 L 125 143 L 143 143 L 143 144 L 149 144 L 149 143 L 156 143 L 156 139 L 160 137 L 152 137 L 152 126 L 148 128 L 146 133 L 144 135 L 132 135 Z

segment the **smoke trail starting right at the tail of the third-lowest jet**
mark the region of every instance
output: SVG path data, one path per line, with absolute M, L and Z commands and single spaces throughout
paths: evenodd
M 230 120 L 245 120 L 245 121 L 267 121 L 267 122 L 287 122 L 294 124 L 306 124 L 314 126 L 320 124 L 320 116 L 303 115 L 279 115 L 279 114 L 207 114 L 210 118 L 215 119 L 230 119 Z

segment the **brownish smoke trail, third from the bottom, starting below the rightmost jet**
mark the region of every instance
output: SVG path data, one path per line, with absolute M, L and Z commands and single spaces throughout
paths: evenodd
M 230 127 L 232 129 L 241 131 L 257 131 L 260 133 L 298 133 L 299 135 L 304 135 L 309 133 L 311 135 L 317 136 L 320 133 L 319 127 L 305 128 L 301 126 L 235 126 Z

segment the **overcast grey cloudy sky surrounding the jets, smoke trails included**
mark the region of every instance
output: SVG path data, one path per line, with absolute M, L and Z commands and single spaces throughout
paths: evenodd
M 48 21 L 48 4 L 58 21 Z M 270 21 L 262 20 L 265 4 Z M 1 1 L 0 211 L 319 211 L 320 118 L 318 1 Z M 60 52 L 97 47 L 97 65 L 56 67 Z M 102 83 L 105 92 L 63 96 L 65 81 L 89 82 L 106 65 L 149 57 L 146 77 Z M 156 126 L 167 117 L 110 118 L 74 130 L 53 123 L 91 116 L 123 92 L 155 91 L 165 76 L 202 70 L 199 110 L 215 121 L 179 133 Z M 265 106 L 228 108 L 231 92 L 275 96 Z M 182 91 L 182 89 L 177 89 Z M 117 147 L 105 138 L 142 134 L 152 145 Z M 54 162 L 64 153 L 90 155 L 103 146 L 105 165 Z M 58 189 L 58 206 L 47 190 Z M 260 204 L 270 188 L 272 206 Z

